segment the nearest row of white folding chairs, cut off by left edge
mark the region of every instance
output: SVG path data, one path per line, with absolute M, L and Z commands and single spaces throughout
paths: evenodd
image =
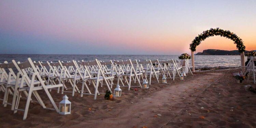
M 45 85 L 45 82 L 42 80 L 38 72 L 38 69 L 36 68 L 36 66 L 34 65 L 34 63 L 30 58 L 28 58 L 27 61 L 22 63 L 20 62 L 16 63 L 15 60 L 12 60 L 12 62 L 9 62 L 9 63 L 5 61 L 3 64 L 0 64 L 0 69 L 1 69 L 1 83 L 4 83 L 1 86 L 5 86 L 4 99 L 3 99 L 4 106 L 8 104 L 12 105 L 11 110 L 13 110 L 14 113 L 16 113 L 18 110 L 24 111 L 23 119 L 26 119 L 28 114 L 29 104 L 31 101 L 38 102 L 43 108 L 47 109 L 40 95 L 37 92 L 38 90 L 44 90 L 47 97 L 49 98 L 49 100 L 54 106 L 54 109 L 52 110 L 59 112 L 59 109 L 55 104 L 48 89 L 61 87 L 62 84 L 58 84 L 54 86 Z M 7 75 L 7 72 L 5 71 L 5 69 L 9 70 L 8 77 L 5 77 Z M 15 74 L 13 72 L 13 69 L 17 69 L 18 73 Z M 29 74 L 31 75 L 31 77 L 29 77 L 29 75 L 27 74 L 28 70 L 30 70 Z M 12 102 L 8 102 L 9 95 L 13 96 Z M 36 100 L 32 100 L 31 96 L 34 96 Z M 24 110 L 19 109 L 21 98 L 26 99 L 26 105 Z

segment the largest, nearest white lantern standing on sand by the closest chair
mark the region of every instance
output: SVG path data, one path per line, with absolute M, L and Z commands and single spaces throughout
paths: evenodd
M 63 100 L 59 102 L 59 114 L 66 115 L 71 112 L 71 102 L 68 100 L 67 95 L 63 96 Z

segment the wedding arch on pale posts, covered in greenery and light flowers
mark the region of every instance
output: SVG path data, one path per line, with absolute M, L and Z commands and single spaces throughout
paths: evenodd
M 234 44 L 236 44 L 238 51 L 241 54 L 241 65 L 245 66 L 244 63 L 244 51 L 245 46 L 243 44 L 243 40 L 238 37 L 235 33 L 230 32 L 229 30 L 223 30 L 220 28 L 211 28 L 210 30 L 203 31 L 203 33 L 198 34 L 197 37 L 192 41 L 190 44 L 189 49 L 191 50 L 191 60 L 192 60 L 192 66 L 193 66 L 193 72 L 195 72 L 195 58 L 194 58 L 194 52 L 196 51 L 196 47 L 206 38 L 213 37 L 214 35 L 220 35 L 221 37 L 226 37 L 232 41 L 234 41 Z M 242 68 L 244 70 L 244 68 Z

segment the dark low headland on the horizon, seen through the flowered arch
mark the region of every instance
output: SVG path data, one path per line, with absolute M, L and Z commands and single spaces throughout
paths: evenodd
M 247 53 L 249 51 L 245 51 Z M 240 55 L 238 50 L 226 51 L 226 50 L 218 50 L 218 49 L 206 49 L 203 50 L 202 53 L 197 53 L 195 55 Z

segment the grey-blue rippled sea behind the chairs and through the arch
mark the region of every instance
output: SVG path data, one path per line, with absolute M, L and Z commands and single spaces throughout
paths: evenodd
M 70 61 L 70 60 L 84 60 L 92 61 L 95 59 L 102 61 L 109 60 L 171 60 L 178 59 L 179 55 L 57 55 L 57 54 L 0 54 L 0 63 L 4 61 L 16 62 L 26 61 L 31 58 L 33 61 Z M 191 60 L 190 60 L 191 63 Z M 195 55 L 195 68 L 196 69 L 222 69 L 222 68 L 235 68 L 241 66 L 240 55 Z

